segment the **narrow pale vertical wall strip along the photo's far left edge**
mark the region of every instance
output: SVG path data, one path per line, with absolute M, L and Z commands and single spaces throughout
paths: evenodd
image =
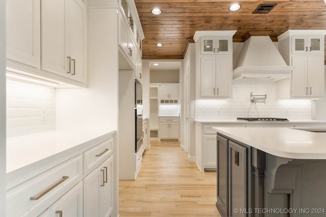
M 0 216 L 6 216 L 6 4 L 0 0 Z

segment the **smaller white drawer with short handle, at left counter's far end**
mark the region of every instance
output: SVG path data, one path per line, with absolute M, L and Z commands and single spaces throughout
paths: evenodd
M 113 154 L 113 139 L 108 139 L 84 152 L 84 173 L 88 174 Z

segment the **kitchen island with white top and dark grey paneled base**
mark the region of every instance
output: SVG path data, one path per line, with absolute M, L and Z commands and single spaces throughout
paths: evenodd
M 222 216 L 325 216 L 326 128 L 213 129 Z

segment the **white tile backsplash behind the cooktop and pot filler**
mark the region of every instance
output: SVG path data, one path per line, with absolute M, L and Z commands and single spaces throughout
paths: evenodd
M 250 101 L 253 95 L 267 95 L 265 103 Z M 236 117 L 280 117 L 311 119 L 311 100 L 279 100 L 278 85 L 270 80 L 233 82 L 233 99 L 196 100 L 196 119 L 235 119 Z

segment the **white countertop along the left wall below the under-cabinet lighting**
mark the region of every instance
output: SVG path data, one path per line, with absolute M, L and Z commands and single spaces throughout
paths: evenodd
M 7 173 L 50 157 L 61 158 L 69 151 L 87 147 L 97 138 L 115 132 L 105 128 L 79 128 L 7 138 Z

